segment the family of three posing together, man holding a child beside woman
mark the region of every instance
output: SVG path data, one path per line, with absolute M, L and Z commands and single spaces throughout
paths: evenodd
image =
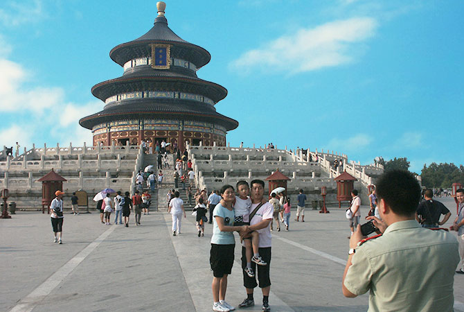
M 274 209 L 264 199 L 265 182 L 262 180 L 248 182 L 239 181 L 236 185 L 238 196 L 231 185 L 224 185 L 220 191 L 220 203 L 213 211 L 213 236 L 211 238 L 210 263 L 213 270 L 213 311 L 232 311 L 235 307 L 226 299 L 227 276 L 231 274 L 235 237 L 233 232 L 240 233 L 242 241 L 242 274 L 247 297 L 239 304 L 240 308 L 253 306 L 253 289 L 258 286 L 262 290 L 262 311 L 269 308 L 269 292 L 271 279 L 269 265 L 271 263 L 270 223 Z M 256 272 L 256 274 L 255 274 Z M 256 281 L 258 276 L 258 282 Z

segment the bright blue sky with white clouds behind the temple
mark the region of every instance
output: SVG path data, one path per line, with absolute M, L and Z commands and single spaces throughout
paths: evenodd
M 166 3 L 172 31 L 211 53 L 199 78 L 229 91 L 231 146 L 463 164 L 463 1 Z M 156 16 L 148 0 L 1 1 L 0 145 L 90 144 L 91 87 L 123 73 L 109 51 Z

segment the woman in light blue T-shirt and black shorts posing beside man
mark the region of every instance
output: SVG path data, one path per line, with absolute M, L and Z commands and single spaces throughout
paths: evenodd
M 227 276 L 232 272 L 235 238 L 234 231 L 245 232 L 246 225 L 233 226 L 235 214 L 233 200 L 235 191 L 231 185 L 221 188 L 221 196 L 224 204 L 218 203 L 214 209 L 213 236 L 211 237 L 211 251 L 209 263 L 213 270 L 213 311 L 228 312 L 235 310 L 226 300 Z M 200 199 L 202 200 L 202 199 Z

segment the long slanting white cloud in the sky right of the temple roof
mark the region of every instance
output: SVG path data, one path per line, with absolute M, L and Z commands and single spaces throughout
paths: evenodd
M 301 28 L 283 35 L 262 48 L 243 53 L 229 65 L 232 69 L 250 71 L 290 71 L 299 73 L 333 67 L 354 60 L 357 42 L 372 37 L 377 22 L 370 17 L 332 21 L 316 28 Z

